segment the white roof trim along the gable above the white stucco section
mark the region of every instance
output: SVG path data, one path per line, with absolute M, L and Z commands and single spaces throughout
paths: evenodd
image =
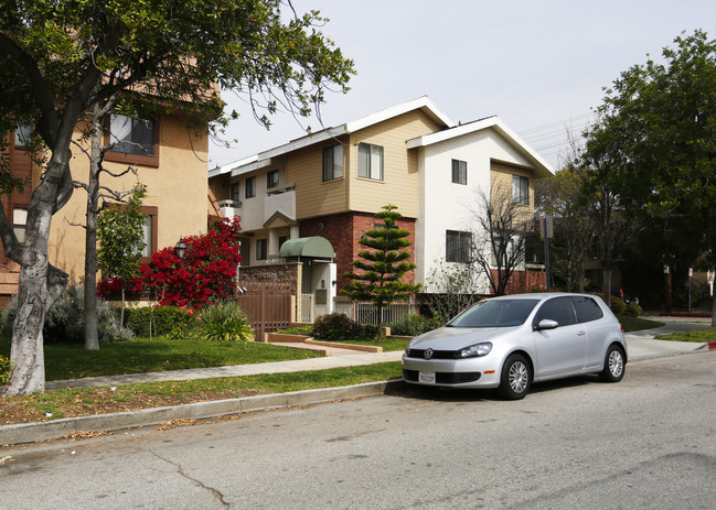
M 423 137 L 414 138 L 406 142 L 408 149 L 416 149 L 419 147 L 428 147 L 435 143 L 440 143 L 466 134 L 481 131 L 484 129 L 492 129 L 496 131 L 510 145 L 517 150 L 527 160 L 532 161 L 537 171 L 537 176 L 546 177 L 555 174 L 555 170 L 547 163 L 534 149 L 532 149 L 517 133 L 507 128 L 498 116 L 487 117 L 484 119 L 467 122 L 456 126 L 444 131 L 438 131 Z

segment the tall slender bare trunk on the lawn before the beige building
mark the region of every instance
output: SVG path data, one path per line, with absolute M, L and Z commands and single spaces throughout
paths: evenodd
M 99 350 L 97 335 L 97 213 L 99 208 L 99 171 L 101 170 L 103 127 L 101 108 L 93 109 L 92 151 L 87 182 L 87 213 L 85 230 L 85 349 Z

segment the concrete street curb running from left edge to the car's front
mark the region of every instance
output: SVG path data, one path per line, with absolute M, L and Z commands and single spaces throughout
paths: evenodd
M 159 425 L 171 420 L 209 419 L 247 411 L 282 409 L 308 405 L 331 400 L 373 397 L 394 391 L 404 384 L 403 380 L 366 382 L 339 388 L 274 393 L 244 397 L 210 402 L 195 402 L 167 408 L 142 409 L 125 413 L 95 414 L 93 416 L 66 417 L 51 422 L 20 423 L 0 426 L 0 445 L 34 443 L 55 440 L 68 434 L 98 431 L 117 431 L 139 426 Z

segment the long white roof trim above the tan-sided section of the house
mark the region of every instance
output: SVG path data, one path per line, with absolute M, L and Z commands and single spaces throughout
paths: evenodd
M 223 166 L 217 166 L 209 171 L 209 176 L 215 177 L 216 175 L 223 174 L 239 175 L 243 173 L 253 172 L 255 170 L 270 165 L 271 158 L 287 154 L 298 149 L 303 149 L 306 147 L 323 142 L 342 134 L 368 128 L 371 126 L 377 124 L 394 117 L 402 116 L 413 110 L 424 111 L 428 117 L 430 117 L 435 122 L 444 128 L 449 128 L 450 126 L 452 126 L 452 121 L 445 113 L 442 113 L 427 96 L 423 96 L 412 101 L 386 108 L 385 110 L 362 117 L 351 122 L 346 122 L 334 128 L 327 128 L 312 134 L 307 134 L 306 137 L 301 137 L 297 140 L 285 143 L 284 145 L 259 152 L 258 154 L 254 154 L 243 160 L 235 161 Z

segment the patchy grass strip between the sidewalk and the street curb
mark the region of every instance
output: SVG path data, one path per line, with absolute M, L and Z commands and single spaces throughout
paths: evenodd
M 303 372 L 162 381 L 111 389 L 70 388 L 0 399 L 0 425 L 106 414 L 248 397 L 335 388 L 402 377 L 399 361 Z

